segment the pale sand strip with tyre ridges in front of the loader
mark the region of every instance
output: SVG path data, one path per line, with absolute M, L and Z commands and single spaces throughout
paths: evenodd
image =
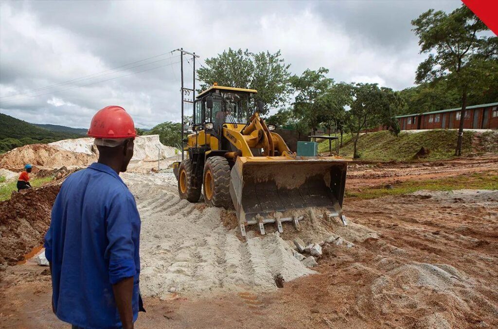
M 142 220 L 140 290 L 146 296 L 272 291 L 278 278 L 315 273 L 277 234 L 241 241 L 237 230 L 223 226 L 221 209 L 180 200 L 172 173 L 123 178 Z

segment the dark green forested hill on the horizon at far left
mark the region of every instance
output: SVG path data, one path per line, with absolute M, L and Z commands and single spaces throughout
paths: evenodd
M 51 131 L 0 113 L 0 153 L 35 143 L 52 143 L 80 134 Z

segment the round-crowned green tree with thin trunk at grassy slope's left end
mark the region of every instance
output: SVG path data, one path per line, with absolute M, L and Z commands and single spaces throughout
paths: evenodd
M 394 113 L 403 106 L 403 100 L 390 88 L 379 88 L 376 83 L 357 83 L 353 87 L 353 103 L 347 111 L 347 126 L 353 139 L 353 158 L 359 158 L 357 144 L 360 133 L 379 125 L 387 125 L 399 133 Z

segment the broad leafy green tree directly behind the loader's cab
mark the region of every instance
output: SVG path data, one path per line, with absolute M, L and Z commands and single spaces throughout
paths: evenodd
M 197 70 L 197 76 L 203 82 L 201 90 L 215 82 L 220 86 L 256 89 L 256 97 L 264 103 L 264 113 L 261 113 L 264 115 L 269 109 L 287 102 L 289 67 L 280 50 L 253 53 L 248 49 L 229 48 L 216 57 L 206 59 L 206 66 Z

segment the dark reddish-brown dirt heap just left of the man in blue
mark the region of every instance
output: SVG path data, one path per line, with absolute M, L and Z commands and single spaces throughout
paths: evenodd
M 0 265 L 13 265 L 43 244 L 59 185 L 28 189 L 0 202 Z

